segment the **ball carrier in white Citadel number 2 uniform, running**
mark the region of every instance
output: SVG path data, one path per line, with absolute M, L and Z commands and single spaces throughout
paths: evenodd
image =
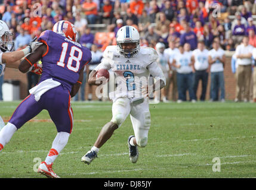
M 147 145 L 150 128 L 149 89 L 160 90 L 166 83 L 163 71 L 156 63 L 156 50 L 140 47 L 140 34 L 134 27 L 121 27 L 116 42 L 117 46 L 107 46 L 103 61 L 91 72 L 88 80 L 88 83 L 100 85 L 97 80 L 103 77 L 97 79 L 97 71 L 111 68 L 115 73 L 117 87 L 109 94 L 113 100 L 112 119 L 103 126 L 91 150 L 82 157 L 81 161 L 87 164 L 97 157 L 100 147 L 124 123 L 128 115 L 134 129 L 134 135 L 128 138 L 129 159 L 132 163 L 137 162 L 138 147 Z M 147 85 L 150 74 L 156 79 L 153 85 Z M 141 87 L 141 83 L 146 85 Z

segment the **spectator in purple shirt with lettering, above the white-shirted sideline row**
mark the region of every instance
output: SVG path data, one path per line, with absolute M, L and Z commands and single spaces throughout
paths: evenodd
M 189 43 L 191 46 L 191 50 L 194 50 L 198 46 L 198 39 L 196 37 L 195 32 L 190 30 L 189 23 L 184 24 L 185 33 L 180 36 L 180 44 L 184 45 L 185 43 Z

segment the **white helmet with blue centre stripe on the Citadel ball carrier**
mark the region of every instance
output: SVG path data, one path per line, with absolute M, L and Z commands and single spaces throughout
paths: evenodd
M 132 26 L 123 26 L 116 33 L 116 43 L 119 53 L 125 58 L 131 58 L 140 50 L 140 34 Z M 135 43 L 136 47 L 134 49 L 123 49 L 122 43 Z

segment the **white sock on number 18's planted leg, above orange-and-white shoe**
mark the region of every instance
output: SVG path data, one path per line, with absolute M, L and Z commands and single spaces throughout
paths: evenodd
M 45 159 L 47 164 L 51 164 L 57 159 L 58 154 L 63 150 L 66 146 L 67 141 L 69 140 L 69 133 L 68 132 L 58 132 L 51 147 L 51 150 L 48 153 L 48 156 Z

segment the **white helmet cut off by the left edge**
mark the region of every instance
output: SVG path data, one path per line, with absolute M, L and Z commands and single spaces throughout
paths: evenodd
M 7 24 L 0 20 L 0 49 L 2 52 L 13 50 L 14 42 L 11 36 L 13 36 L 13 33 L 9 30 Z

